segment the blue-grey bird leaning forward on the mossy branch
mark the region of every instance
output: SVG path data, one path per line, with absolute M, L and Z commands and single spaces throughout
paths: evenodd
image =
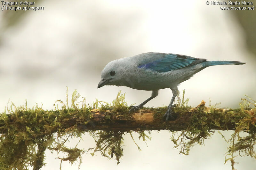
M 170 88 L 172 99 L 163 119 L 175 120 L 172 108 L 179 90 L 178 85 L 206 67 L 226 64 L 245 64 L 238 61 L 209 61 L 187 55 L 148 52 L 109 62 L 101 72 L 98 88 L 104 85 L 127 86 L 132 89 L 152 91 L 151 97 L 138 106 L 131 106 L 129 113 L 141 109 L 158 95 L 158 90 Z

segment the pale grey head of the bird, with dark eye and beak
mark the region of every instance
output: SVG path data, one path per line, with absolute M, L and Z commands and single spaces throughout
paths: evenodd
M 101 80 L 98 84 L 98 88 L 104 85 L 117 85 L 122 82 L 124 75 L 124 67 L 118 60 L 109 62 L 101 72 Z

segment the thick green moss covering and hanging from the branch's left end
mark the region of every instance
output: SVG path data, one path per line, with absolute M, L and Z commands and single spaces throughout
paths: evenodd
M 80 137 L 82 132 L 75 130 L 75 127 L 65 129 L 61 122 L 72 119 L 73 116 L 84 122 L 90 120 L 90 108 L 85 106 L 85 100 L 78 107 L 78 97 L 79 93 L 73 92 L 70 108 L 67 107 L 68 103 L 66 105 L 56 100 L 54 111 L 45 111 L 37 104 L 29 109 L 27 102 L 21 107 L 16 107 L 13 103 L 6 107 L 0 116 L 0 169 L 28 169 L 28 166 L 40 169 L 45 164 L 46 149 L 68 152 L 65 142 L 71 136 Z M 69 150 L 67 160 L 73 162 L 77 153 L 82 152 L 84 151 Z

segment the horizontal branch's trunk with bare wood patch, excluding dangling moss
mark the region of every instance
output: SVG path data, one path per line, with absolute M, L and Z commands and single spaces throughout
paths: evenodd
M 204 100 L 197 107 L 184 107 L 184 108 L 173 108 L 173 113 L 176 115 L 174 121 L 165 122 L 162 116 L 167 110 L 167 107 L 147 108 L 140 109 L 138 112 L 129 114 L 128 107 L 125 111 L 119 112 L 114 109 L 104 110 L 92 108 L 88 110 L 90 112 L 90 119 L 87 116 L 81 116 L 83 112 L 81 110 L 69 109 L 57 111 L 45 111 L 40 109 L 40 112 L 36 114 L 36 117 L 41 119 L 33 120 L 28 119 L 27 123 L 32 122 L 43 122 L 40 135 L 44 135 L 43 132 L 48 132 L 48 128 L 51 128 L 51 132 L 55 133 L 58 131 L 66 131 L 69 128 L 74 128 L 82 131 L 86 130 L 111 130 L 111 131 L 141 131 L 141 130 L 187 130 L 189 127 L 194 129 L 216 129 L 216 130 L 235 130 L 237 124 L 246 117 L 246 113 L 253 114 L 251 109 L 214 109 L 204 106 Z M 32 133 L 32 127 L 24 124 L 20 124 L 20 119 L 27 119 L 27 112 L 31 110 L 18 110 L 17 115 L 6 114 L 5 121 L 0 121 L 1 133 L 8 133 L 8 129 L 4 130 L 6 123 L 8 124 L 19 124 L 21 129 Z M 66 112 L 66 115 L 63 115 Z M 81 113 L 79 113 L 81 112 Z M 40 115 L 38 115 L 40 114 Z M 25 116 L 25 117 L 24 117 Z M 30 115 L 32 116 L 32 115 Z M 45 116 L 47 118 L 52 116 L 53 122 L 44 122 Z M 17 120 L 19 119 L 19 120 Z M 58 120 L 57 120 L 58 119 Z M 256 118 L 255 118 L 256 119 Z M 19 122 L 18 122 L 19 121 Z M 254 131 L 254 120 L 250 120 L 251 124 L 248 124 L 247 130 Z M 255 120 L 256 121 L 256 120 Z M 58 123 L 58 126 L 49 126 L 49 123 Z M 203 124 L 202 124 L 203 123 Z M 61 128 L 61 129 L 60 129 Z M 245 130 L 245 129 L 244 129 Z M 34 134 L 35 135 L 35 134 Z

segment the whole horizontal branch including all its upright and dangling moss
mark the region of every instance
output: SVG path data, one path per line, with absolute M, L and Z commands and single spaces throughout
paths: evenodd
M 175 148 L 180 148 L 181 154 L 188 154 L 190 147 L 195 144 L 203 144 L 214 129 L 234 130 L 229 140 L 222 135 L 231 144 L 226 161 L 230 160 L 234 168 L 233 158 L 237 151 L 256 158 L 253 150 L 256 143 L 256 108 L 249 108 L 250 104 L 256 107 L 254 100 L 242 99 L 239 109 L 205 107 L 204 101 L 197 107 L 188 107 L 184 93 L 182 98 L 178 95 L 178 107 L 173 109 L 176 120 L 168 122 L 162 120 L 167 107 L 144 108 L 129 114 L 129 107 L 121 92 L 110 104 L 96 100 L 90 106 L 85 104 L 85 98 L 77 102 L 80 94 L 75 91 L 70 107 L 67 96 L 66 104 L 56 100 L 55 110 L 50 111 L 43 110 L 37 104 L 29 109 L 27 102 L 21 107 L 12 103 L 0 115 L 0 169 L 28 169 L 28 166 L 40 169 L 45 164 L 47 149 L 65 153 L 66 157 L 58 157 L 61 162 L 68 160 L 73 163 L 78 160 L 79 166 L 82 162 L 81 154 L 85 152 L 91 152 L 92 156 L 100 152 L 110 159 L 115 155 L 118 164 L 123 156 L 123 135 L 128 133 L 132 137 L 131 132 L 136 132 L 139 138 L 146 141 L 150 139 L 150 130 L 166 129 L 172 131 L 171 140 Z M 239 133 L 243 131 L 248 133 L 246 137 L 240 137 Z M 66 147 L 69 137 L 81 139 L 84 133 L 89 133 L 95 139 L 94 148 Z M 132 140 L 135 142 L 133 137 Z

